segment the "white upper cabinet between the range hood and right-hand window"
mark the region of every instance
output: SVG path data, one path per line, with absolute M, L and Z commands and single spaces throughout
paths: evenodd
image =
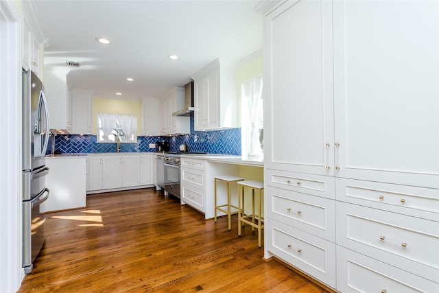
M 217 59 L 193 75 L 195 130 L 239 127 L 237 66 Z

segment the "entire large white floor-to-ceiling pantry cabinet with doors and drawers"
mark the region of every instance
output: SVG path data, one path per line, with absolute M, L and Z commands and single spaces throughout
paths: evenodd
M 303 239 L 316 236 L 364 259 L 353 266 L 340 254 L 327 262 L 337 267 L 334 279 L 283 255 L 268 230 L 265 257 L 341 292 L 382 282 L 396 291 L 423 288 L 422 279 L 437 291 L 439 3 L 263 1 L 257 10 L 265 16 L 265 226 L 298 228 Z M 310 203 L 335 225 L 283 209 L 311 210 Z M 425 231 L 414 232 L 413 223 Z M 379 263 L 385 269 L 372 272 Z M 401 270 L 390 268 L 406 277 L 393 279 Z M 356 272 L 368 283 L 351 278 Z

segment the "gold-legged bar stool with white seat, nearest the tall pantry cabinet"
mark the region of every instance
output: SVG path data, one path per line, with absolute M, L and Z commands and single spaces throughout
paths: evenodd
M 250 215 L 245 214 L 244 198 L 246 194 L 244 192 L 244 187 L 249 187 L 252 189 L 252 213 Z M 254 228 L 258 229 L 258 245 L 262 246 L 262 229 L 263 229 L 263 217 L 261 213 L 261 207 L 263 202 L 263 183 L 256 180 L 245 180 L 238 182 L 238 236 L 241 236 L 241 225 L 249 224 L 252 226 L 252 231 Z M 259 190 L 259 207 L 257 213 L 254 213 L 254 190 Z M 257 220 L 257 224 L 255 224 Z M 241 224 L 242 223 L 242 224 Z

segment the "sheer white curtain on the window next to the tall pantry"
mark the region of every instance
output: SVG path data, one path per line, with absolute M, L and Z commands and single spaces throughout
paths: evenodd
M 243 124 L 250 134 L 248 156 L 262 155 L 259 141 L 259 130 L 263 128 L 262 89 L 262 75 L 242 83 L 242 95 L 246 100 L 246 108 L 242 109 L 246 111 Z

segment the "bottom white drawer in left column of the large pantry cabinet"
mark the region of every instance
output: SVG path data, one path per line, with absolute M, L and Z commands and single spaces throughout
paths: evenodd
M 335 288 L 335 244 L 268 219 L 265 245 L 279 259 Z

